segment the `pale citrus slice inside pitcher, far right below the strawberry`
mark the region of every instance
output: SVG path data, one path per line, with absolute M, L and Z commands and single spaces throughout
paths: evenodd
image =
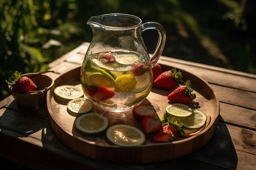
M 145 90 L 150 84 L 150 74 L 148 72 L 144 73 L 143 75 L 134 76 L 136 79 L 137 85 L 131 92 L 137 94 Z

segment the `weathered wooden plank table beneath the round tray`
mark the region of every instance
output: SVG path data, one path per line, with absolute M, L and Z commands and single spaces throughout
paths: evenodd
M 89 43 L 51 62 L 53 80 L 80 66 Z M 47 105 L 20 107 L 13 96 L 0 102 L 0 156 L 33 169 L 256 169 L 256 75 L 170 57 L 159 63 L 197 75 L 220 101 L 212 139 L 192 154 L 167 162 L 118 164 L 86 158 L 65 146 L 49 124 Z

